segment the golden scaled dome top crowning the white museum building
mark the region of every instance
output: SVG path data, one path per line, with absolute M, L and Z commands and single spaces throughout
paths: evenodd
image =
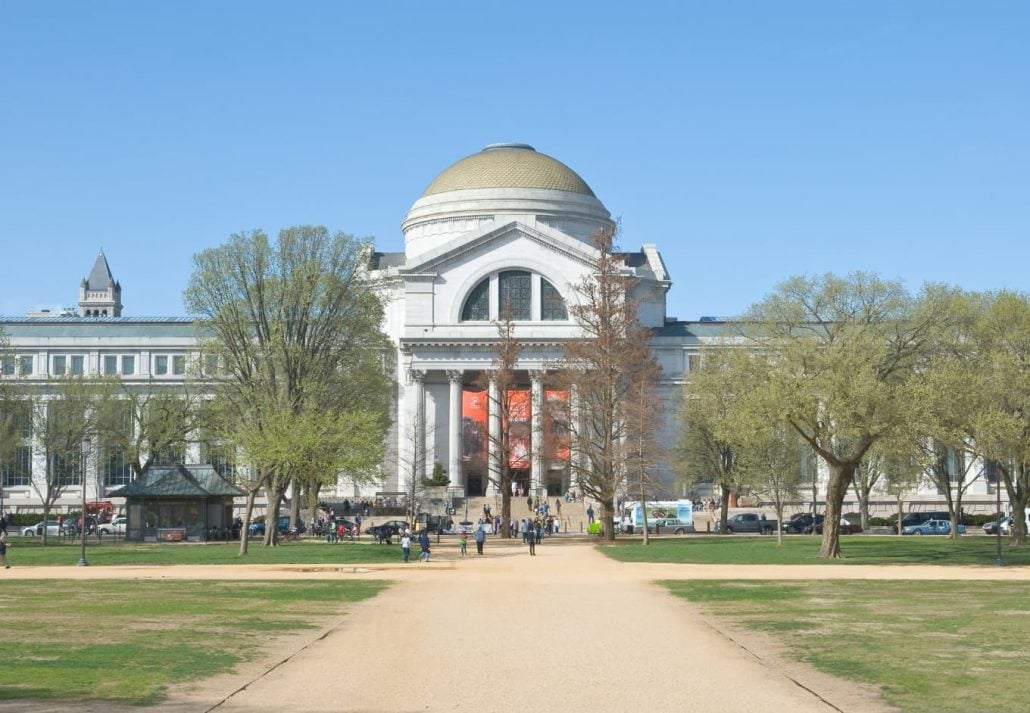
M 451 164 L 433 179 L 422 197 L 469 189 L 548 189 L 593 197 L 574 170 L 524 143 L 491 143 Z

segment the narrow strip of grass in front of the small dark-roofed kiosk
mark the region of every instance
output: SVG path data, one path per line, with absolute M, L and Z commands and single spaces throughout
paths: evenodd
M 43 547 L 36 538 L 8 538 L 7 559 L 12 567 L 75 565 L 79 557 L 77 542 L 52 539 Z M 401 545 L 365 542 L 328 544 L 321 540 L 286 542 L 278 547 L 264 547 L 250 542 L 248 553 L 240 556 L 239 542 L 209 543 L 135 543 L 105 540 L 98 545 L 90 540 L 85 558 L 91 566 L 106 565 L 351 565 L 401 562 Z

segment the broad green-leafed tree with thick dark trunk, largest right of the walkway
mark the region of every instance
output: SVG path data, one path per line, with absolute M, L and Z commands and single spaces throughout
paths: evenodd
M 869 448 L 916 428 L 917 367 L 948 317 L 898 282 L 854 273 L 791 278 L 741 321 L 765 358 L 748 407 L 778 413 L 829 470 L 820 556 L 840 556 L 844 498 Z

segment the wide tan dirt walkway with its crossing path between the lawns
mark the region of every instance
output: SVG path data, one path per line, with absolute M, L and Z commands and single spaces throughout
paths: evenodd
M 440 556 L 443 555 L 443 556 Z M 678 578 L 1021 579 L 1030 568 L 627 565 L 593 547 L 487 545 L 430 565 L 24 568 L 66 578 L 384 578 L 394 586 L 270 659 L 172 691 L 194 711 L 790 710 L 872 713 L 876 691 L 777 655 L 771 640 L 721 630 L 654 585 Z M 641 647 L 639 642 L 647 642 Z M 647 703 L 644 703 L 647 702 Z M 15 710 L 0 705 L 0 711 Z M 18 710 L 27 710 L 23 705 Z M 44 706 L 34 710 L 112 710 Z

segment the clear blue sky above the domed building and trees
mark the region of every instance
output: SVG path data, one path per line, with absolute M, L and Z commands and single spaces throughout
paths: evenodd
M 497 141 L 658 245 L 671 316 L 826 271 L 1026 291 L 1028 38 L 1030 2 L 0 0 L 0 314 L 101 247 L 132 315 L 240 230 L 402 250 Z

